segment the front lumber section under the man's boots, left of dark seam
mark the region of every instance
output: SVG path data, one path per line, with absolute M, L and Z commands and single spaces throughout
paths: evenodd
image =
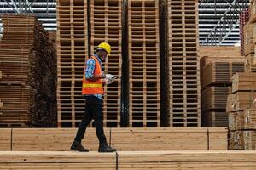
M 115 169 L 115 153 L 75 151 L 0 151 L 0 169 Z

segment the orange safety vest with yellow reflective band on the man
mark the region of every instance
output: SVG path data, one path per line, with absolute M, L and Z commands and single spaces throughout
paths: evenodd
M 98 59 L 96 59 L 94 56 L 91 56 L 91 58 L 95 60 L 94 75 L 101 75 L 102 66 L 100 65 Z M 88 59 L 86 59 L 84 66 L 82 94 L 103 94 L 103 82 L 101 78 L 96 81 L 90 81 L 85 78 L 87 60 Z

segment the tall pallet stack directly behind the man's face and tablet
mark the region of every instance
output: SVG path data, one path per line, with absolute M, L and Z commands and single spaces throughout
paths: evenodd
M 102 17 L 105 16 L 105 17 Z M 122 74 L 122 0 L 104 2 L 90 1 L 91 41 L 90 53 L 96 51 L 101 42 L 111 45 L 111 55 L 103 62 L 104 72 L 119 76 Z M 120 127 L 121 78 L 105 86 L 103 96 L 104 127 Z

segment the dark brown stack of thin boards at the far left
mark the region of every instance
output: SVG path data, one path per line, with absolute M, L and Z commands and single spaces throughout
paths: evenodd
M 0 123 L 55 127 L 55 48 L 32 15 L 3 15 Z

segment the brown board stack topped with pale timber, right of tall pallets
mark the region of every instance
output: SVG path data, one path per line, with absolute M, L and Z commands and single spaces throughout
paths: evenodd
M 201 58 L 202 126 L 227 127 L 226 103 L 231 93 L 231 79 L 234 73 L 244 71 L 244 59 L 239 48 L 201 47 L 200 51 L 204 56 Z

